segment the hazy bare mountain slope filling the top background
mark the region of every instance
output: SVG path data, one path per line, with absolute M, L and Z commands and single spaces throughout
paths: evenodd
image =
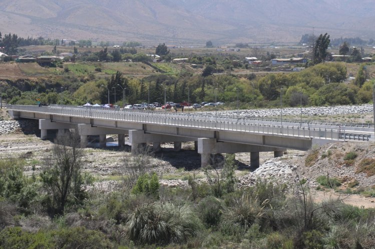
M 371 0 L 4 0 L 2 32 L 143 44 L 297 42 L 304 33 L 373 38 Z M 93 18 L 94 17 L 94 18 Z

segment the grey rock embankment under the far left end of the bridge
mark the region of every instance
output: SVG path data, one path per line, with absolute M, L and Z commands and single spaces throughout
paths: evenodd
M 22 131 L 25 134 L 35 134 L 38 129 L 38 120 L 9 120 L 0 121 L 0 135 Z

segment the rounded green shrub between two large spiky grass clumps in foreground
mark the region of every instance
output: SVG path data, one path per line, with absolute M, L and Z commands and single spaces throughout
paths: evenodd
M 219 224 L 222 209 L 222 201 L 213 196 L 208 196 L 202 199 L 197 206 L 200 218 L 207 227 Z

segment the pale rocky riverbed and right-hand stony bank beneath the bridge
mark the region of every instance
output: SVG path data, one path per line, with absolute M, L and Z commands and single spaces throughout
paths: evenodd
M 341 107 L 341 109 L 344 108 Z M 367 119 L 370 116 L 371 113 L 368 111 L 363 112 L 361 119 Z M 116 140 L 116 136 L 114 138 Z M 44 158 L 51 154 L 52 146 L 52 141 L 43 141 L 34 134 L 26 135 L 21 129 L 16 129 L 10 134 L 0 135 L 0 158 L 24 159 L 27 164 L 26 174 L 38 174 L 40 168 L 43 167 Z M 194 176 L 198 182 L 206 181 L 200 169 L 200 155 L 193 151 L 193 143 L 183 143 L 181 152 L 174 152 L 173 144 L 164 144 L 162 147 L 162 152 L 155 154 L 149 164 L 151 170 L 159 175 L 161 184 L 188 187 L 189 175 Z M 131 158 L 129 151 L 130 146 L 126 146 L 123 150 L 117 147 L 86 148 L 83 170 L 95 175 L 98 184 L 108 187 L 111 183 L 121 180 L 125 173 L 125 162 Z M 352 160 L 344 160 L 349 152 L 354 153 L 356 157 Z M 222 158 L 222 155 L 217 156 L 219 161 Z M 298 179 L 306 179 L 306 185 L 311 190 L 316 190 L 320 187 L 316 178 L 326 175 L 341 181 L 342 185 L 339 188 L 342 190 L 346 187 L 353 190 L 375 187 L 375 145 L 373 143 L 332 143 L 313 148 L 308 152 L 288 150 L 281 158 L 273 158 L 273 153 L 260 153 L 261 166 L 258 169 L 249 167 L 249 153 L 237 153 L 236 163 L 238 187 L 250 186 L 258 178 L 272 179 L 280 184 L 285 183 L 289 187 L 295 186 Z M 316 192 L 319 198 L 324 194 L 326 192 Z M 337 197 L 341 194 L 336 192 L 329 195 Z M 355 201 L 352 201 L 353 199 Z M 345 202 L 351 201 L 358 206 L 375 208 L 374 200 L 375 198 L 350 195 L 346 197 Z

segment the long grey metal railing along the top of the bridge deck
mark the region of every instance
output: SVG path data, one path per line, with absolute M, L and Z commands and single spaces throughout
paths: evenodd
M 347 135 L 345 127 L 341 129 L 315 128 L 305 126 L 290 126 L 278 124 L 263 124 L 254 120 L 237 120 L 230 118 L 202 116 L 190 113 L 173 113 L 170 111 L 153 112 L 148 110 L 123 111 L 120 109 L 107 110 L 83 106 L 25 106 L 7 105 L 15 111 L 37 112 L 62 116 L 75 116 L 85 118 L 109 119 L 143 124 L 160 124 L 174 127 L 212 129 L 217 131 L 237 131 L 278 136 L 307 137 L 330 140 L 362 140 L 368 141 L 368 135 L 356 133 L 356 136 Z M 352 134 L 352 133 L 351 133 Z M 361 139 L 360 139 L 361 138 Z

